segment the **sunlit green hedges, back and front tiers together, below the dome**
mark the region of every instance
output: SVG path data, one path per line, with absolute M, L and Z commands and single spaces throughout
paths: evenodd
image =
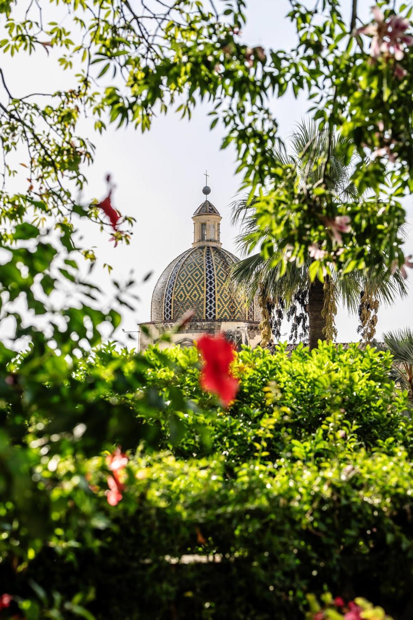
M 355 345 L 246 349 L 234 363 L 238 398 L 223 410 L 199 388 L 194 349 L 100 351 L 74 373 L 79 386 L 99 378 L 90 406 L 106 415 L 110 404 L 146 428 L 123 499 L 107 503 L 109 471 L 90 456 L 91 436 L 77 451 L 63 451 L 66 435 L 50 440 L 45 458 L 32 423 L 25 467 L 38 476 L 35 514 L 50 521 L 33 539 L 20 513 L 0 505 L 11 524 L 4 591 L 27 601 L 27 620 L 298 620 L 306 595 L 325 589 L 409 618 L 412 423 L 390 366 L 388 354 Z M 0 441 L 9 467 L 20 452 Z M 53 605 L 54 615 L 42 611 Z

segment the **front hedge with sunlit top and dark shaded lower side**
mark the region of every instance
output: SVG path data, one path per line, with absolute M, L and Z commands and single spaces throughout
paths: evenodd
M 413 573 L 406 454 L 251 463 L 232 479 L 218 459 L 184 463 L 159 453 L 131 467 L 139 478 L 99 550 L 79 550 L 75 565 L 47 550 L 25 580 L 59 591 L 94 587 L 90 609 L 102 619 L 301 618 L 306 593 L 324 585 L 349 599 L 366 596 L 396 618 L 406 606 Z M 188 554 L 221 561 L 171 564 Z

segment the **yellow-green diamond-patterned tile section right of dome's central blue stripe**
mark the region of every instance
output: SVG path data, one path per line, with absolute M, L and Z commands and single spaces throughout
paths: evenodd
M 245 321 L 246 308 L 240 295 L 235 295 L 228 282 L 229 268 L 235 257 L 225 250 L 211 247 L 215 265 L 216 318 L 220 321 Z

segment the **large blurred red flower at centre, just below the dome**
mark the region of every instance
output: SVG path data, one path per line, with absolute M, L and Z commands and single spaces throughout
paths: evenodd
M 238 392 L 238 381 L 231 376 L 229 365 L 234 360 L 234 348 L 223 335 L 202 336 L 197 342 L 204 365 L 200 376 L 202 389 L 217 394 L 224 407 L 228 407 Z

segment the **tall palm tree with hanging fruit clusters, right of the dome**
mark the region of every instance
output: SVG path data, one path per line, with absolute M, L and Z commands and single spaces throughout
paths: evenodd
M 327 187 L 335 193 L 337 200 L 357 200 L 360 198 L 357 188 L 350 182 L 351 163 L 345 166 L 339 153 L 352 148 L 352 142 L 340 136 L 329 137 L 328 130 L 319 130 L 314 122 L 302 122 L 291 137 L 293 154 L 289 156 L 285 148 L 275 151 L 277 161 L 293 164 L 303 182 L 311 187 L 321 179 L 322 169 L 318 164 L 329 149 L 329 161 L 326 170 Z M 305 180 L 305 181 L 304 181 Z M 233 204 L 233 223 L 241 224 L 238 236 L 238 247 L 246 255 L 251 247 L 251 239 L 255 245 L 259 243 L 260 233 L 254 210 L 254 201 L 238 200 Z M 264 235 L 263 235 L 264 236 Z M 333 272 L 324 278 L 324 282 L 309 279 L 309 265 L 313 261 L 308 255 L 304 264 L 298 268 L 295 263 L 288 262 L 285 272 L 278 263 L 273 267 L 273 260 L 263 259 L 261 254 L 247 255 L 236 263 L 233 269 L 233 280 L 239 288 L 252 299 L 259 292 L 263 322 L 260 325 L 262 342 L 266 345 L 274 331 L 273 313 L 275 317 L 275 334 L 283 311 L 293 317 L 301 327 L 301 335 L 307 335 L 306 319 L 308 317 L 308 343 L 310 348 L 317 347 L 318 340 L 334 340 L 337 335 L 334 316 L 337 302 L 342 300 L 350 312 L 359 312 L 362 332 L 365 340 L 370 341 L 375 334 L 377 321 L 376 312 L 380 303 L 391 303 L 397 294 L 406 294 L 406 286 L 400 272 L 390 275 L 383 272 L 363 277 L 360 272 L 352 272 L 345 277 Z M 301 312 L 297 311 L 301 307 Z M 297 333 L 297 324 L 293 323 L 293 331 Z M 279 337 L 279 335 L 278 335 Z

